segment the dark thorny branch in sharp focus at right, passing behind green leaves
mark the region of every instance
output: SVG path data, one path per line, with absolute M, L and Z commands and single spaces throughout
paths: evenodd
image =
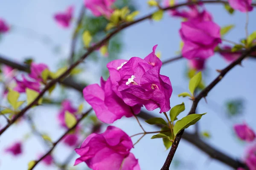
M 195 109 L 197 108 L 198 102 L 203 98 L 206 97 L 207 94 L 209 93 L 210 90 L 212 90 L 212 88 L 215 87 L 215 85 L 218 84 L 218 82 L 221 81 L 221 79 L 227 74 L 228 71 L 230 71 L 233 67 L 235 67 L 236 65 L 240 64 L 241 61 L 247 57 L 248 55 L 250 55 L 250 53 L 252 53 L 253 51 L 256 51 L 256 46 L 250 48 L 247 52 L 245 52 L 244 54 L 241 55 L 241 57 L 239 57 L 238 59 L 236 59 L 236 61 L 232 62 L 230 65 L 228 65 L 226 68 L 224 68 L 219 76 L 217 78 L 215 78 L 206 88 L 204 88 L 204 90 L 202 90 L 193 100 L 193 104 L 191 107 L 191 110 L 189 111 L 189 114 L 193 114 L 195 113 Z M 166 158 L 165 163 L 163 164 L 163 167 L 161 168 L 161 170 L 169 170 L 170 164 L 172 162 L 173 156 L 177 150 L 177 147 L 179 145 L 180 139 L 182 134 L 184 133 L 184 130 L 180 131 L 180 133 L 177 134 L 175 141 L 172 144 L 172 148 L 169 152 L 169 155 Z M 235 167 L 238 168 L 238 167 Z

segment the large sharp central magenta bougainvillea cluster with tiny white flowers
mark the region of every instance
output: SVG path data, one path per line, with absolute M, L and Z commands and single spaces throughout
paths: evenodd
M 162 62 L 153 52 L 145 59 L 132 57 L 117 59 L 107 64 L 110 77 L 84 88 L 84 99 L 93 107 L 99 120 L 113 123 L 122 116 L 138 114 L 142 105 L 148 111 L 160 108 L 170 110 L 172 85 L 170 79 L 160 75 Z

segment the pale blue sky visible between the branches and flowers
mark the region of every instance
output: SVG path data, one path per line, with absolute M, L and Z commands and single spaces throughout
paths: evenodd
M 52 15 L 56 11 L 64 11 L 67 6 L 75 5 L 75 16 L 79 12 L 82 0 L 1 0 L 0 1 L 0 17 L 4 18 L 8 23 L 14 25 L 13 31 L 6 34 L 0 42 L 0 54 L 11 57 L 17 62 L 23 61 L 25 57 L 33 57 L 36 62 L 47 63 L 52 70 L 55 70 L 60 59 L 67 58 L 70 50 L 70 41 L 72 28 L 59 28 Z M 154 9 L 148 8 L 146 0 L 136 1 L 140 10 L 140 16 L 148 14 Z M 214 21 L 220 26 L 235 24 L 236 27 L 225 37 L 225 39 L 239 42 L 239 39 L 245 36 L 244 24 L 245 14 L 236 11 L 232 16 L 227 14 L 224 7 L 220 4 L 207 5 L 207 9 L 212 13 Z M 256 30 L 256 23 L 253 16 L 256 10 L 250 13 L 249 32 Z M 74 23 L 72 24 L 72 27 Z M 168 59 L 175 57 L 176 51 L 179 50 L 180 37 L 178 30 L 180 28 L 180 20 L 171 18 L 166 13 L 163 20 L 153 22 L 146 20 L 122 31 L 122 40 L 124 49 L 120 54 L 120 58 L 129 59 L 130 57 L 144 58 L 151 52 L 154 45 L 158 44 L 157 51 L 161 51 L 162 58 Z M 42 43 L 41 40 L 35 38 L 35 35 L 25 31 L 27 29 L 34 30 L 37 34 L 47 35 L 54 42 L 53 44 L 61 45 L 60 54 L 56 55 L 52 52 L 49 45 Z M 36 35 L 37 36 L 37 35 Z M 228 153 L 234 158 L 240 158 L 243 155 L 246 144 L 239 142 L 233 134 L 232 125 L 236 122 L 246 121 L 251 127 L 256 129 L 255 122 L 255 64 L 256 60 L 246 59 L 242 63 L 243 67 L 237 66 L 224 77 L 223 80 L 208 94 L 208 105 L 202 100 L 198 107 L 198 113 L 205 113 L 200 121 L 200 130 L 209 131 L 211 139 L 206 142 L 212 144 L 218 150 Z M 91 83 L 99 82 L 100 69 L 93 67 L 92 63 L 85 64 L 87 67 L 85 74 L 80 77 L 84 80 L 90 80 Z M 214 79 L 218 73 L 215 69 L 222 69 L 227 66 L 218 54 L 212 56 L 207 61 L 207 77 L 206 84 Z M 173 94 L 171 97 L 171 106 L 185 102 L 186 111 L 180 115 L 185 116 L 190 109 L 191 102 L 188 99 L 178 98 L 177 94 L 188 90 L 188 81 L 184 78 L 186 68 L 186 60 L 180 60 L 163 66 L 161 74 L 169 76 L 173 85 Z M 183 90 L 184 89 L 184 90 Z M 76 95 L 76 92 L 70 94 L 70 98 Z M 246 101 L 243 116 L 236 119 L 225 119 L 224 102 L 227 99 L 243 98 Z M 212 102 L 214 101 L 214 102 Z M 82 101 L 75 101 L 74 105 L 79 105 Z M 212 107 L 218 105 L 219 108 Z M 31 110 L 35 115 L 37 127 L 49 133 L 53 140 L 58 139 L 64 131 L 59 129 L 56 124 L 56 114 L 58 107 L 46 106 L 33 108 Z M 156 116 L 162 116 L 159 111 L 152 112 Z M 3 125 L 4 119 L 0 118 L 0 125 Z M 122 128 L 129 135 L 141 132 L 139 125 L 133 119 L 121 119 L 114 123 L 115 126 Z M 143 126 L 148 131 L 156 130 L 154 127 Z M 193 127 L 189 128 L 193 130 Z M 22 139 L 23 136 L 30 132 L 26 122 L 20 125 L 13 125 L 0 138 L 0 170 L 26 170 L 27 163 L 37 158 L 38 153 L 44 152 L 41 142 L 37 138 L 30 138 L 25 142 L 24 153 L 22 156 L 14 158 L 3 153 L 4 148 L 12 142 Z M 157 170 L 162 167 L 166 159 L 168 151 L 165 151 L 161 139 L 150 139 L 151 135 L 145 136 L 132 150 L 136 158 L 139 159 L 142 170 Z M 134 141 L 136 138 L 134 138 Z M 72 150 L 60 144 L 54 155 L 58 160 L 64 160 L 65 156 Z M 175 160 L 180 160 L 182 166 L 177 169 L 194 169 L 194 170 L 229 170 L 230 167 L 212 160 L 202 151 L 193 147 L 188 142 L 182 140 L 175 155 Z M 73 164 L 74 161 L 71 161 Z M 84 169 L 85 164 L 80 164 L 77 169 Z M 39 164 L 35 170 L 56 170 L 56 167 L 45 167 Z

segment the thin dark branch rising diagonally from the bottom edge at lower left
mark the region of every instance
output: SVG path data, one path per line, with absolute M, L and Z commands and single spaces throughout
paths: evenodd
M 45 153 L 44 156 L 42 156 L 40 159 L 38 159 L 37 161 L 35 161 L 35 164 L 31 167 L 30 170 L 34 169 L 34 167 L 35 167 L 41 160 L 43 160 L 47 155 L 49 155 L 49 154 L 52 152 L 52 150 L 56 147 L 56 145 L 57 145 L 68 133 L 70 133 L 72 130 L 74 130 L 74 129 L 76 128 L 76 126 L 79 124 L 79 122 L 81 122 L 81 120 L 83 120 L 83 119 L 90 113 L 90 111 L 92 111 L 92 108 L 90 108 L 88 111 L 86 111 L 85 113 L 83 113 L 82 116 L 81 116 L 81 118 L 77 120 L 76 124 L 75 124 L 73 127 L 71 127 L 70 129 L 68 129 L 56 142 L 54 142 L 54 143 L 52 144 L 51 149 L 50 149 L 47 153 Z

